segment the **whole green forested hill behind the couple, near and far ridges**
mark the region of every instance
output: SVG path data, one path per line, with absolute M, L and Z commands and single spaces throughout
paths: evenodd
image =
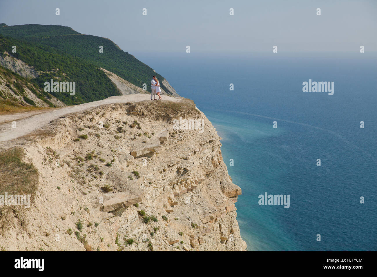
M 17 52 L 12 52 L 16 46 Z M 103 46 L 103 53 L 100 53 Z M 56 25 L 0 25 L 0 55 L 8 52 L 13 57 L 34 66 L 38 77 L 34 82 L 44 87 L 44 82 L 75 81 L 76 93 L 51 92 L 68 105 L 104 99 L 120 92 L 100 67 L 109 70 L 138 87 L 147 84 L 156 75 L 164 78 L 133 55 L 121 50 L 113 41 L 84 35 L 72 28 Z M 175 90 L 161 88 L 176 96 Z

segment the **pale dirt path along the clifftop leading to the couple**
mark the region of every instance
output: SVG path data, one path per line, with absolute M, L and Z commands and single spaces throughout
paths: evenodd
M 180 97 L 171 97 L 167 95 L 162 96 L 163 100 L 169 101 L 180 101 Z M 127 102 L 139 102 L 143 100 L 150 101 L 149 94 L 131 94 L 131 95 L 121 95 L 121 96 L 111 96 L 109 98 L 94 101 L 89 103 L 80 104 L 77 106 L 69 106 L 60 109 L 55 109 L 48 112 L 38 113 L 36 115 L 30 116 L 30 114 L 26 116 L 20 115 L 17 113 L 12 119 L 11 115 L 7 115 L 7 118 L 4 118 L 3 121 L 12 120 L 16 122 L 16 128 L 12 128 L 12 122 L 7 122 L 0 125 L 0 142 L 1 141 L 10 141 L 12 139 L 18 138 L 20 136 L 27 135 L 32 131 L 43 127 L 44 125 L 48 124 L 50 121 L 59 118 L 60 116 L 67 115 L 69 113 L 74 112 L 81 112 L 86 109 L 90 109 L 93 107 L 97 107 L 104 104 L 112 104 L 112 103 L 127 103 Z M 159 101 L 159 100 L 156 100 Z M 21 119 L 20 119 L 21 118 Z

